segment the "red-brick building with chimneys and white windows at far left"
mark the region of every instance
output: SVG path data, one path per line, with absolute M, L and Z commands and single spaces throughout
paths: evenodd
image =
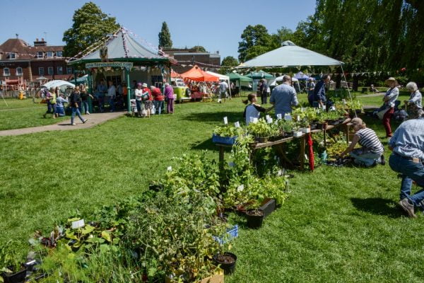
M 24 40 L 11 38 L 0 45 L 0 81 L 3 84 L 28 84 L 44 76 L 71 79 L 73 69 L 67 67 L 63 46 L 50 46 L 42 38 L 30 46 Z

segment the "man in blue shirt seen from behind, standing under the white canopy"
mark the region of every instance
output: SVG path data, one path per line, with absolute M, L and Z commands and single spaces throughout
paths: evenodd
M 283 83 L 272 90 L 269 102 L 275 106 L 276 116 L 281 114 L 281 117 L 284 117 L 285 113 L 291 113 L 292 106 L 297 106 L 299 104 L 295 88 L 290 86 L 290 83 L 291 77 L 284 75 Z

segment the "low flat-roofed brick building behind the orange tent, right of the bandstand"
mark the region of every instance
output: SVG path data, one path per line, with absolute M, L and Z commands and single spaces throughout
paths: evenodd
M 181 74 L 184 71 L 192 69 L 193 66 L 188 65 L 199 65 L 202 69 L 205 67 L 208 70 L 216 70 L 218 68 L 213 68 L 211 65 L 220 66 L 220 54 L 209 53 L 209 52 L 198 52 L 194 48 L 163 48 L 163 52 L 174 57 L 178 61 L 177 66 L 173 66 L 172 69 L 177 73 Z M 184 65 L 184 66 L 183 66 Z

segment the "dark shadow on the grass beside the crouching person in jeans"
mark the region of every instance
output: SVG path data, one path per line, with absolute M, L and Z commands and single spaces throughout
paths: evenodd
M 363 212 L 369 212 L 377 215 L 386 215 L 391 218 L 399 218 L 403 214 L 394 205 L 393 200 L 382 199 L 381 197 L 372 197 L 369 199 L 351 198 L 354 207 Z

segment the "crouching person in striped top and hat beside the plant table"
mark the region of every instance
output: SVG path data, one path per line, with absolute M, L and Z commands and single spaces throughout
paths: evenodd
M 377 163 L 384 165 L 384 147 L 381 141 L 379 141 L 377 134 L 372 129 L 367 128 L 363 120 L 358 117 L 353 118 L 351 123 L 355 135 L 351 144 L 341 154 L 341 157 L 350 154 L 355 158 L 355 163 L 367 167 Z M 362 147 L 355 149 L 356 144 L 360 144 Z

